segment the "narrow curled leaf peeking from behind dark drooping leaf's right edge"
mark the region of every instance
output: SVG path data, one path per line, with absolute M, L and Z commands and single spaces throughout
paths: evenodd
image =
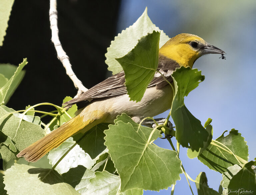
M 201 154 L 211 144 L 212 135 L 213 135 L 213 128 L 212 128 L 212 125 L 210 125 L 211 122 L 212 122 L 212 119 L 208 118 L 208 120 L 204 124 L 204 128 L 208 132 L 208 138 L 207 138 L 207 141 L 204 142 L 204 147 L 200 148 L 198 152 L 195 150 L 192 151 L 191 148 L 188 148 L 187 155 L 189 158 L 192 159 L 192 158 L 198 157 L 198 155 Z

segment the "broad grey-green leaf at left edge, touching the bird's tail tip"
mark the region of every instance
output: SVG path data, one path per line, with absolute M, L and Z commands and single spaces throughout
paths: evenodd
M 38 116 L 23 116 L 19 113 L 10 114 L 12 112 L 15 112 L 15 110 L 0 106 L 0 129 L 11 138 L 18 151 L 44 137 L 44 130 L 40 126 L 41 121 Z M 6 164 L 15 159 L 16 156 L 5 145 L 0 148 L 0 153 L 5 169 Z

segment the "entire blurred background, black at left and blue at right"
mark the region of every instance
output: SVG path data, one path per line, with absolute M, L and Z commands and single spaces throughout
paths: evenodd
M 58 0 L 57 3 L 60 41 L 73 71 L 87 88 L 109 75 L 104 54 L 110 41 L 132 25 L 146 6 L 152 22 L 169 37 L 192 33 L 224 50 L 226 60 L 219 59 L 219 55 L 207 55 L 196 61 L 194 68 L 202 70 L 205 80 L 185 98 L 185 104 L 202 124 L 209 117 L 213 119 L 213 139 L 225 130 L 239 130 L 249 146 L 250 160 L 256 157 L 253 149 L 256 147 L 255 0 Z M 48 0 L 14 2 L 7 36 L 0 48 L 0 63 L 18 65 L 28 58 L 25 77 L 7 103 L 15 110 L 41 102 L 61 105 L 65 96 L 77 92 L 56 57 L 48 12 Z M 157 117 L 166 117 L 168 112 Z M 155 143 L 170 149 L 166 140 L 157 139 Z M 218 190 L 221 174 L 197 159 L 188 159 L 186 150 L 180 150 L 186 172 L 193 179 L 201 171 L 206 172 L 208 185 Z M 184 174 L 180 176 L 175 194 L 191 194 Z M 195 184 L 190 184 L 196 194 Z M 170 188 L 160 193 L 144 192 L 145 195 L 170 193 Z

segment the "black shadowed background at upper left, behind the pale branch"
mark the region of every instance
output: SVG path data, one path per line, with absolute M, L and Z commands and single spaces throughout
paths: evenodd
M 105 56 L 116 34 L 120 1 L 57 1 L 59 38 L 73 71 L 90 88 L 106 77 Z M 49 1 L 14 1 L 0 49 L 0 63 L 18 65 L 27 58 L 26 74 L 6 106 L 50 102 L 61 105 L 77 90 L 51 42 Z M 47 108 L 46 108 L 47 109 Z

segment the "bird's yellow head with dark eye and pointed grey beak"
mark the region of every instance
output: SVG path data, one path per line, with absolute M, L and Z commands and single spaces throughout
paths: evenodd
M 178 34 L 171 38 L 159 50 L 160 55 L 171 58 L 182 66 L 190 66 L 191 68 L 199 57 L 210 53 L 226 54 L 202 38 L 187 33 Z

